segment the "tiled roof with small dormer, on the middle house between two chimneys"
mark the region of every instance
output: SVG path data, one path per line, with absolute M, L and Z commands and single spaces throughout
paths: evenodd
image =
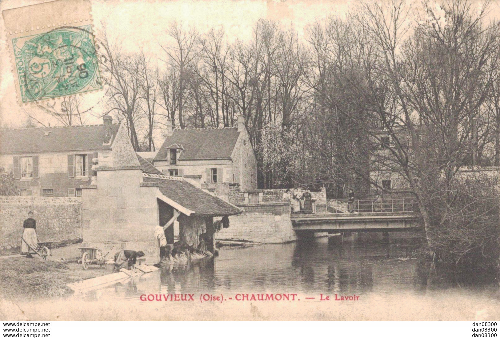
M 237 128 L 175 129 L 165 138 L 154 160 L 165 160 L 172 144 L 184 148 L 178 160 L 230 158 L 238 136 Z

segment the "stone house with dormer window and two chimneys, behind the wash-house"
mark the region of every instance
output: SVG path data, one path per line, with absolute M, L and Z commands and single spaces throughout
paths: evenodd
M 257 162 L 243 116 L 237 127 L 218 129 L 174 129 L 153 159 L 165 175 L 197 179 L 203 187 L 228 183 L 241 190 L 257 187 Z

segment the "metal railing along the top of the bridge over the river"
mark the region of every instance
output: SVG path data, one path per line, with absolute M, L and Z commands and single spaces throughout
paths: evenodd
M 413 198 L 335 199 L 326 208 L 318 208 L 313 202 L 312 210 L 294 210 L 293 213 L 410 212 L 413 203 Z

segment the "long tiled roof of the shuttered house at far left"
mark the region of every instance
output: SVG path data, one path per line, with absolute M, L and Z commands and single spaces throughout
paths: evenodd
M 112 139 L 119 124 L 112 125 Z M 0 153 L 33 153 L 73 150 L 103 150 L 104 128 L 100 124 L 70 127 L 0 129 Z

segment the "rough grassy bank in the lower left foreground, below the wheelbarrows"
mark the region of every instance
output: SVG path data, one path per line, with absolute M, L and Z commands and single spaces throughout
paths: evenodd
M 0 297 L 18 300 L 63 297 L 72 292 L 68 283 L 107 273 L 103 268 L 83 270 L 80 264 L 23 256 L 0 259 L 0 271 Z

